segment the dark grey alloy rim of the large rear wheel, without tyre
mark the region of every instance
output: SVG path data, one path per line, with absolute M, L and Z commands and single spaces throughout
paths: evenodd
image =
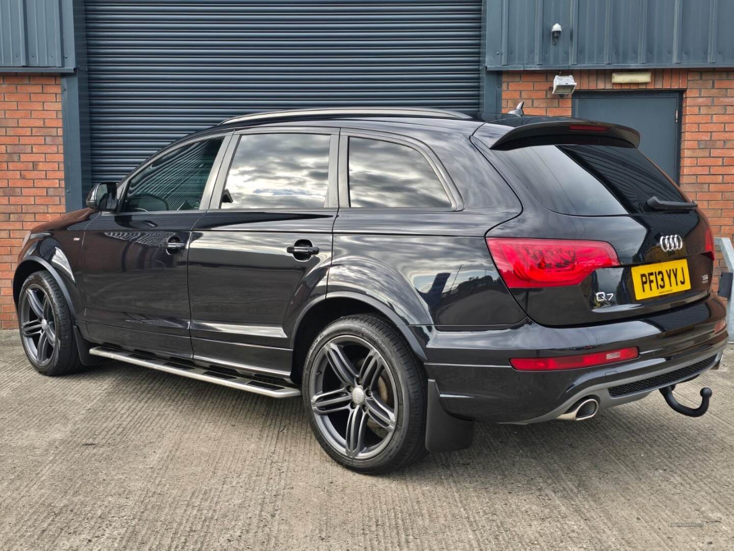
M 310 405 L 331 447 L 352 459 L 369 459 L 387 447 L 397 426 L 393 370 L 377 348 L 352 335 L 319 350 L 311 371 Z

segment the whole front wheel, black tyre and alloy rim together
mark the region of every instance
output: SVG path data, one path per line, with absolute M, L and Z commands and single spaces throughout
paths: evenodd
M 66 375 L 84 368 L 74 342 L 69 306 L 48 272 L 34 272 L 23 282 L 18 322 L 23 350 L 37 372 Z

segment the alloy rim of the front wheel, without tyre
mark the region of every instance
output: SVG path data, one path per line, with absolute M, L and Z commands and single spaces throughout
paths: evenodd
M 51 299 L 39 285 L 29 285 L 21 298 L 21 336 L 26 350 L 37 365 L 46 365 L 54 356 L 57 333 Z

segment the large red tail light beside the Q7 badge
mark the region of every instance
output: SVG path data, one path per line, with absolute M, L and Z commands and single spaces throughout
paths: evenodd
M 605 241 L 487 237 L 487 246 L 512 289 L 578 285 L 594 270 L 619 266 L 617 252 Z

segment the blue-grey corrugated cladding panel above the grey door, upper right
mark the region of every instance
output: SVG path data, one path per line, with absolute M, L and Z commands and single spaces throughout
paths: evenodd
M 734 66 L 733 0 L 486 1 L 490 71 Z

